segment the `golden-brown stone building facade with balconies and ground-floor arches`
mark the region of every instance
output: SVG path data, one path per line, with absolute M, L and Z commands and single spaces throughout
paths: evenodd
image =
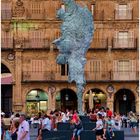
M 83 110 L 101 106 L 139 112 L 138 0 L 76 0 L 94 17 L 87 52 Z M 1 1 L 2 111 L 34 114 L 77 109 L 67 65 L 56 64 L 60 0 Z

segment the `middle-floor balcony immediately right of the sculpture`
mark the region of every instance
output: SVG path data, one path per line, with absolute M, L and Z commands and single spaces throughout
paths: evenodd
M 108 39 L 93 38 L 90 49 L 107 49 Z

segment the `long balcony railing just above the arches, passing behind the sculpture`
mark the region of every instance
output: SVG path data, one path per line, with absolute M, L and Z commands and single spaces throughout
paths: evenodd
M 85 71 L 85 78 L 87 82 L 108 82 L 108 81 L 136 81 L 139 80 L 139 72 L 138 71 Z M 55 71 L 24 71 L 22 73 L 22 81 L 23 82 L 31 82 L 31 81 L 68 81 L 68 76 L 62 76 L 61 72 Z

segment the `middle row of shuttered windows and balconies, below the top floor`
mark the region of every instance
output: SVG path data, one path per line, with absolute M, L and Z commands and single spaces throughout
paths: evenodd
M 22 48 L 50 48 L 52 41 L 60 37 L 59 29 L 42 30 L 21 30 L 18 38 L 14 36 L 14 31 L 1 31 L 2 48 L 13 48 L 14 43 L 20 41 Z M 115 32 L 114 37 L 102 37 L 95 35 L 91 43 L 91 49 L 134 49 L 138 47 L 138 39 L 132 31 Z

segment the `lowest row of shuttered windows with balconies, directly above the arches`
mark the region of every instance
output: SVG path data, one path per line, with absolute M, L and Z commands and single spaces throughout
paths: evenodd
M 55 61 L 31 60 L 24 64 L 23 80 L 67 80 L 68 65 L 58 65 Z M 47 67 L 46 67 L 47 66 Z M 138 80 L 138 60 L 112 60 L 111 67 L 104 60 L 87 60 L 86 80 Z

